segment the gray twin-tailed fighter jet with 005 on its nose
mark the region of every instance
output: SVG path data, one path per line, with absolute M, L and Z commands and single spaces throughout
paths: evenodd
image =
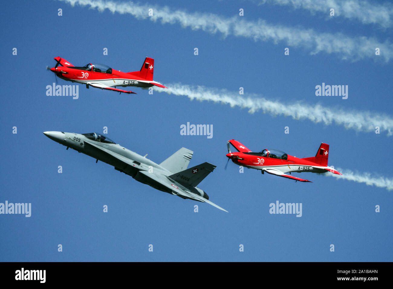
M 182 147 L 158 165 L 147 159 L 147 155 L 138 155 L 100 133 L 77 134 L 46 131 L 44 134 L 51 140 L 65 145 L 67 149 L 71 147 L 79 153 L 91 156 L 96 159 L 95 162 L 98 160 L 106 162 L 114 166 L 116 170 L 130 175 L 138 182 L 152 188 L 177 195 L 183 199 L 207 202 L 228 212 L 209 201 L 209 196 L 196 187 L 216 166 L 204 162 L 187 169 L 193 156 L 193 151 L 189 149 Z

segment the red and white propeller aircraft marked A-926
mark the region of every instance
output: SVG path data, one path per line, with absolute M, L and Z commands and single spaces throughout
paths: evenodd
M 125 92 L 134 94 L 135 92 L 118 89 L 116 86 L 136 86 L 145 88 L 155 85 L 167 88 L 161 83 L 153 81 L 154 59 L 149 57 L 146 57 L 141 70 L 134 72 L 121 72 L 100 63 L 89 63 L 86 66 L 73 66 L 64 58 L 55 57 L 54 59 L 57 63 L 55 67 L 50 69 L 51 72 L 54 72 L 61 79 L 86 84 L 86 88 L 92 86 L 118 91 L 120 93 Z M 47 69 L 49 69 L 48 66 Z

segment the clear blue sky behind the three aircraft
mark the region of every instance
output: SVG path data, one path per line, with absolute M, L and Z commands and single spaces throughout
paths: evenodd
M 0 261 L 392 261 L 391 20 L 362 22 L 340 6 L 331 17 L 319 1 L 321 9 L 259 2 L 97 2 L 123 4 L 129 13 L 69 1 L 5 3 L 0 202 L 31 203 L 31 217 L 0 215 Z M 391 5 L 385 10 L 391 19 Z M 152 57 L 154 80 L 168 90 L 132 88 L 137 94 L 128 95 L 79 85 L 78 99 L 46 96 L 55 77 L 45 67 L 57 56 L 127 72 Z M 348 98 L 316 96 L 322 83 L 348 85 Z M 330 123 L 313 120 L 320 111 Z M 187 122 L 213 125 L 213 137 L 180 135 Z M 186 147 L 194 151 L 190 166 L 215 164 L 199 187 L 229 213 L 154 190 L 42 134 L 103 127 L 157 163 Z M 296 174 L 313 182 L 301 183 L 239 173 L 232 163 L 224 170 L 233 138 L 253 151 L 298 157 L 314 156 L 325 142 L 329 166 L 358 181 Z M 276 201 L 302 203 L 302 216 L 269 214 Z

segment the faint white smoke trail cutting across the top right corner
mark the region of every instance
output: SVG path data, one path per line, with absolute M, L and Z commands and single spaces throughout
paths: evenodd
M 311 13 L 323 13 L 330 15 L 330 9 L 334 9 L 334 17 L 343 17 L 349 20 L 357 20 L 362 24 L 377 24 L 382 28 L 393 26 L 393 4 L 385 2 L 380 4 L 370 3 L 365 0 L 253 0 L 261 4 L 289 5 L 295 9 L 309 10 Z M 330 17 L 330 16 L 329 16 Z

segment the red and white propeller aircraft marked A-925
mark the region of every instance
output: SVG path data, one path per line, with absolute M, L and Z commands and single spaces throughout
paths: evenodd
M 232 153 L 230 145 L 237 149 L 238 153 Z M 253 153 L 247 147 L 242 145 L 237 140 L 229 140 L 228 145 L 228 161 L 232 160 L 235 164 L 244 166 L 246 168 L 260 169 L 262 173 L 270 173 L 279 177 L 293 179 L 301 182 L 311 182 L 309 180 L 300 179 L 287 175 L 291 172 L 311 172 L 311 173 L 332 173 L 342 175 L 335 169 L 327 166 L 327 159 L 329 155 L 329 145 L 321 144 L 315 156 L 310 158 L 296 158 L 279 151 L 277 149 L 264 149 L 259 153 Z

